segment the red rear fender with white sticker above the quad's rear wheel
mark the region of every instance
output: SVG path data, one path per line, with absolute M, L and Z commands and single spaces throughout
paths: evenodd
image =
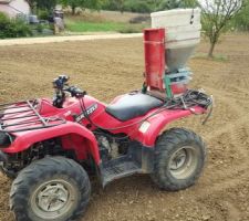
M 146 147 L 155 147 L 156 138 L 160 131 L 172 122 L 177 119 L 188 117 L 194 114 L 204 114 L 206 109 L 201 107 L 194 107 L 191 110 L 174 109 L 164 110 L 144 123 L 139 127 L 137 140 L 141 141 Z

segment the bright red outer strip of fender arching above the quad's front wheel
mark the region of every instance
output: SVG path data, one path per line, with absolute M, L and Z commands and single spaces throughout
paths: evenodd
M 66 135 L 76 135 L 77 137 L 81 137 L 84 140 L 86 140 L 86 143 L 82 143 L 82 145 L 81 144 L 74 145 L 73 149 L 75 150 L 75 152 L 81 152 L 81 148 L 83 148 L 83 145 L 87 144 L 87 147 L 85 147 L 85 149 L 87 149 L 91 152 L 95 162 L 97 165 L 100 164 L 100 154 L 98 154 L 98 147 L 97 147 L 95 136 L 93 135 L 91 130 L 89 130 L 84 126 L 81 126 L 77 123 L 66 122 L 65 124 L 62 124 L 59 126 L 15 133 L 13 135 L 15 136 L 15 139 L 12 143 L 12 145 L 8 148 L 3 148 L 2 151 L 8 154 L 17 154 L 30 148 L 33 144 L 42 141 L 42 140 L 46 140 L 46 139 L 51 139 L 55 137 L 63 137 Z

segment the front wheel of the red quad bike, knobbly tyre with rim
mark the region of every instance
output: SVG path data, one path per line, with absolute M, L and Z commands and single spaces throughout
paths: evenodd
M 46 157 L 21 170 L 10 191 L 17 221 L 69 221 L 82 215 L 91 194 L 90 179 L 75 161 Z

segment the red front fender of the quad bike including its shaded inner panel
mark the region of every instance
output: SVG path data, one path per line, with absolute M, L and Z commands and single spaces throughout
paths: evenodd
M 100 152 L 94 134 L 77 123 L 68 122 L 55 127 L 17 133 L 15 139 L 4 152 L 17 154 L 27 150 L 33 144 L 52 138 L 61 138 L 64 149 L 74 150 L 79 160 L 86 159 L 91 155 L 94 161 L 100 164 Z

